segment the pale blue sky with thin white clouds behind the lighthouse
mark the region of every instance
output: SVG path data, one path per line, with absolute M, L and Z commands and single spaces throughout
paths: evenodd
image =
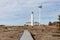
M 38 6 L 42 4 L 42 9 Z M 0 0 L 0 24 L 23 25 L 30 21 L 31 12 L 35 21 L 41 15 L 41 24 L 57 21 L 60 14 L 60 0 Z

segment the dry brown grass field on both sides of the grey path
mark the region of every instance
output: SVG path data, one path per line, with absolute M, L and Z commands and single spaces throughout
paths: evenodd
M 23 30 L 29 30 L 35 40 L 60 40 L 60 37 L 52 36 L 57 31 L 56 27 L 50 26 L 0 27 L 0 40 L 18 40 L 21 37 Z

